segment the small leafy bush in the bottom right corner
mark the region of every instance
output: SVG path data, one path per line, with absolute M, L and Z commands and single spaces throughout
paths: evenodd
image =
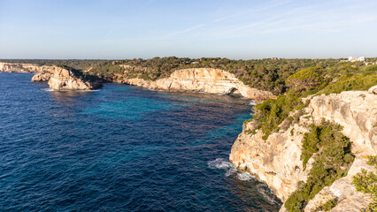
M 377 169 L 377 156 L 369 156 L 368 164 Z M 353 177 L 352 183 L 359 192 L 371 193 L 373 197 L 373 202 L 368 205 L 368 208 L 363 208 L 361 211 L 377 211 L 377 175 L 363 169 Z

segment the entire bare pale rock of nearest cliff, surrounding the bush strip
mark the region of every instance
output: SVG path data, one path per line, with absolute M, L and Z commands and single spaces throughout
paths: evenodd
M 248 171 L 264 181 L 281 201 L 286 201 L 289 195 L 296 191 L 297 183 L 307 178 L 312 159 L 309 160 L 306 170 L 303 170 L 303 162 L 300 160 L 302 139 L 304 133 L 309 131 L 308 125 L 319 124 L 322 118 L 343 126 L 342 133 L 350 138 L 352 152 L 357 157 L 352 165 L 353 170 L 360 170 L 361 167 L 369 169 L 370 167 L 364 165 L 365 163 L 358 163 L 360 158 L 364 155 L 377 154 L 377 95 L 367 91 L 347 91 L 337 95 L 315 96 L 304 110 L 307 115 L 300 117 L 297 124 L 291 125 L 285 131 L 271 134 L 267 140 L 262 140 L 263 133 L 260 131 L 254 135 L 248 133 L 255 125 L 254 122 L 248 123 L 235 140 L 229 155 L 235 167 Z M 354 198 L 363 204 L 370 201 L 370 197 L 356 193 L 356 190 L 352 190 L 354 192 L 352 195 L 355 195 L 352 196 L 350 189 L 345 188 L 352 186 L 350 178 L 347 179 L 348 181 L 341 179 L 335 181 L 337 183 L 334 185 L 338 186 L 336 189 L 333 188 L 333 191 L 336 190 L 333 195 L 339 198 Z M 360 199 L 360 196 L 364 196 L 364 199 Z M 346 202 L 346 199 L 339 200 Z M 312 204 L 319 206 L 316 203 Z M 358 206 L 361 207 L 363 204 L 360 203 Z M 336 208 L 341 205 L 339 204 Z M 284 211 L 284 208 L 281 211 Z

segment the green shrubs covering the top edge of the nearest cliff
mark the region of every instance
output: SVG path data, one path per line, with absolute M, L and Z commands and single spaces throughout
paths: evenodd
M 256 129 L 265 133 L 264 140 L 271 133 L 279 131 L 279 125 L 285 121 L 289 125 L 302 115 L 289 116 L 295 110 L 301 110 L 308 102 L 302 102 L 308 95 L 340 93 L 347 90 L 366 90 L 377 85 L 377 73 L 368 67 L 356 67 L 350 64 L 338 64 L 336 67 L 324 69 L 310 67 L 290 75 L 285 82 L 288 92 L 276 99 L 267 100 L 254 107 L 254 120 L 258 122 Z M 287 129 L 288 127 L 285 126 Z

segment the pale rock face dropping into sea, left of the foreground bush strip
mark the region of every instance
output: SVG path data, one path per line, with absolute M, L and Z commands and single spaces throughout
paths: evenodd
M 229 160 L 238 170 L 249 172 L 273 189 L 281 201 L 286 201 L 290 193 L 296 191 L 299 181 L 305 181 L 311 161 L 304 170 L 300 160 L 304 133 L 309 132 L 311 120 L 300 118 L 298 124 L 288 130 L 271 134 L 263 140 L 262 131 L 252 135 L 254 122 L 244 126 L 232 146 Z M 292 132 L 292 133 L 291 133 Z

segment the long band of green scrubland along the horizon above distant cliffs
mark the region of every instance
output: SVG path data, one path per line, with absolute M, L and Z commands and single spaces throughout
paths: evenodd
M 366 58 L 367 61 L 375 61 L 376 58 Z M 179 58 L 179 57 L 154 57 L 151 59 L 127 59 L 127 60 L 2 60 L 7 63 L 26 63 L 38 65 L 65 65 L 76 70 L 81 70 L 90 75 L 96 75 L 103 79 L 150 79 L 156 80 L 168 78 L 170 74 L 179 69 L 186 68 L 218 68 L 235 74 L 243 83 L 250 87 L 271 91 L 274 95 L 286 94 L 292 87 L 309 89 L 323 84 L 321 79 L 343 81 L 342 83 L 328 87 L 328 91 L 335 89 L 351 89 L 341 77 L 354 78 L 352 84 L 362 84 L 376 81 L 373 65 L 365 66 L 362 62 L 347 63 L 341 59 L 253 59 L 232 60 L 219 57 L 204 58 Z M 307 69 L 311 68 L 312 69 Z M 314 68 L 313 68 L 314 67 Z M 305 70 L 305 72 L 299 72 Z M 361 72 L 374 72 L 374 78 L 358 76 Z M 344 78 L 344 77 L 343 77 Z M 338 80 L 339 79 L 339 80 Z M 308 84 L 309 83 L 309 84 Z M 327 84 L 334 84 L 329 83 Z M 367 87 L 364 84 L 364 87 Z M 297 88 L 298 88 L 297 87 Z M 340 88 L 337 88 L 340 87 Z M 345 87 L 345 88 L 342 88 Z

